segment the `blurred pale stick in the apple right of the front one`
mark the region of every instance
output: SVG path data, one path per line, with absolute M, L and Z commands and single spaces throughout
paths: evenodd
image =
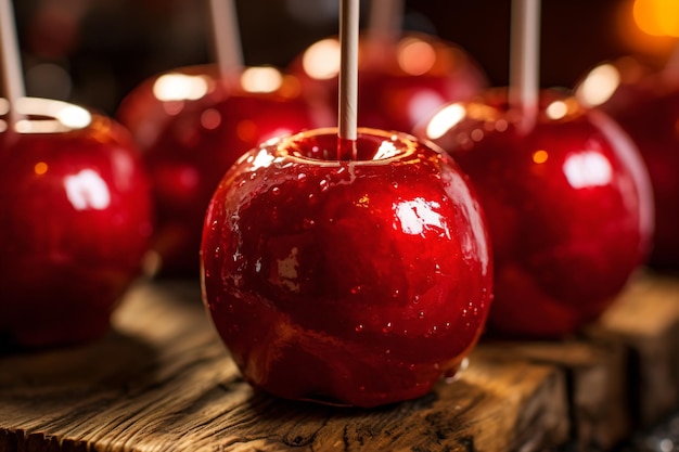
M 522 112 L 521 128 L 535 126 L 539 104 L 540 0 L 514 0 L 510 48 L 510 106 Z

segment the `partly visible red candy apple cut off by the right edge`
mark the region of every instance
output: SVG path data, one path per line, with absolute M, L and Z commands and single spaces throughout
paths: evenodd
M 631 57 L 593 68 L 578 99 L 613 117 L 637 143 L 653 185 L 655 235 L 649 264 L 679 268 L 679 82 Z

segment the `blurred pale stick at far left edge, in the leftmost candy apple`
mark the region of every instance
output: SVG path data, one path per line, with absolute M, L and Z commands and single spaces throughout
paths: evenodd
M 10 124 L 21 117 L 16 113 L 16 100 L 26 95 L 22 61 L 18 54 L 16 26 L 12 0 L 0 0 L 0 65 L 2 66 L 2 92 L 10 103 Z

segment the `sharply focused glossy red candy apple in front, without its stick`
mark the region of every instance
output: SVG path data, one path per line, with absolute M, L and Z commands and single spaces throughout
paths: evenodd
M 246 153 L 218 185 L 206 306 L 245 378 L 290 399 L 374 406 L 426 393 L 477 341 L 491 302 L 485 219 L 445 153 L 336 129 Z

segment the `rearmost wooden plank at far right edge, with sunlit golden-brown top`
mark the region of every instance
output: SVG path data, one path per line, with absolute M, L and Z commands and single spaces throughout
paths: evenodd
M 627 349 L 637 426 L 649 427 L 679 408 L 679 279 L 640 274 L 587 337 Z

